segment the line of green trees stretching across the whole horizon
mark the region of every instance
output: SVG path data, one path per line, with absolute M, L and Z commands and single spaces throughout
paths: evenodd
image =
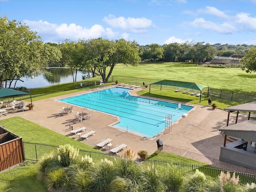
M 255 49 L 254 46 L 246 44 L 210 45 L 205 42 L 140 46 L 136 41 L 113 41 L 103 38 L 64 40 L 58 44 L 43 43 L 40 36 L 28 26 L 16 20 L 8 20 L 4 16 L 0 17 L 0 87 L 15 87 L 22 77 L 51 75 L 46 71 L 47 67 L 70 68 L 73 82 L 76 82 L 78 70 L 90 71 L 93 76 L 97 72 L 106 83 L 118 63 L 132 66 L 137 66 L 143 61 L 202 64 L 214 56 L 242 57 L 251 48 Z M 244 64 L 242 69 L 255 72 L 255 66 L 248 68 Z

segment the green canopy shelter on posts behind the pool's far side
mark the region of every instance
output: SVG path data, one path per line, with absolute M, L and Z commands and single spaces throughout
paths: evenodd
M 158 81 L 158 82 L 150 84 L 149 94 L 150 94 L 151 85 L 161 85 L 160 90 L 162 90 L 162 85 L 175 86 L 175 87 L 185 87 L 185 88 L 200 90 L 200 102 L 201 102 L 202 89 L 208 87 L 208 86 L 198 84 L 198 83 L 191 83 L 191 82 L 184 82 L 184 81 L 162 80 L 162 81 Z M 208 87 L 208 92 L 209 92 L 209 87 Z

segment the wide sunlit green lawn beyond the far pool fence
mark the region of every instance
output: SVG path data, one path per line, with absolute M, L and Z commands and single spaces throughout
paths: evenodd
M 193 63 L 142 63 L 138 67 L 115 66 L 112 76 L 196 82 L 210 88 L 256 94 L 256 73 L 240 68 L 211 68 Z

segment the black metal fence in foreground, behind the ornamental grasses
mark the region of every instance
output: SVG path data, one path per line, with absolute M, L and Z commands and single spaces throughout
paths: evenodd
M 28 161 L 37 162 L 42 159 L 43 156 L 46 154 L 56 154 L 58 146 L 50 145 L 50 144 L 42 144 L 42 143 L 32 143 L 32 142 L 23 142 L 24 146 L 24 154 L 25 159 Z M 107 158 L 108 160 L 111 160 L 113 163 L 118 162 L 120 159 L 120 156 L 114 154 L 106 154 L 104 152 L 97 152 L 97 151 L 88 151 L 88 150 L 79 150 L 79 156 L 90 156 L 94 162 L 99 162 L 101 159 Z M 137 162 L 140 162 L 141 164 L 144 164 L 145 166 L 150 166 L 152 168 L 158 168 L 158 167 L 165 167 L 170 164 L 174 164 L 178 166 L 179 170 L 182 173 L 191 172 L 196 169 L 200 170 L 201 172 L 204 172 L 204 174 L 218 178 L 218 175 L 220 175 L 221 171 L 227 172 L 230 171 L 231 176 L 233 175 L 234 171 L 232 170 L 223 170 L 218 168 L 212 168 L 208 166 L 200 166 L 200 165 L 194 165 L 194 164 L 182 164 L 179 162 L 170 162 L 170 161 L 163 161 L 163 160 L 141 160 L 137 159 Z M 256 174 L 251 173 L 243 173 L 243 172 L 235 172 L 236 176 L 239 175 L 240 182 L 243 184 L 254 182 L 256 183 Z

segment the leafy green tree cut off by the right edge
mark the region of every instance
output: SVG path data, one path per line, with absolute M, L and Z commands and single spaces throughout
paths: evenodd
M 239 62 L 246 73 L 256 72 L 256 46 L 252 46 Z

